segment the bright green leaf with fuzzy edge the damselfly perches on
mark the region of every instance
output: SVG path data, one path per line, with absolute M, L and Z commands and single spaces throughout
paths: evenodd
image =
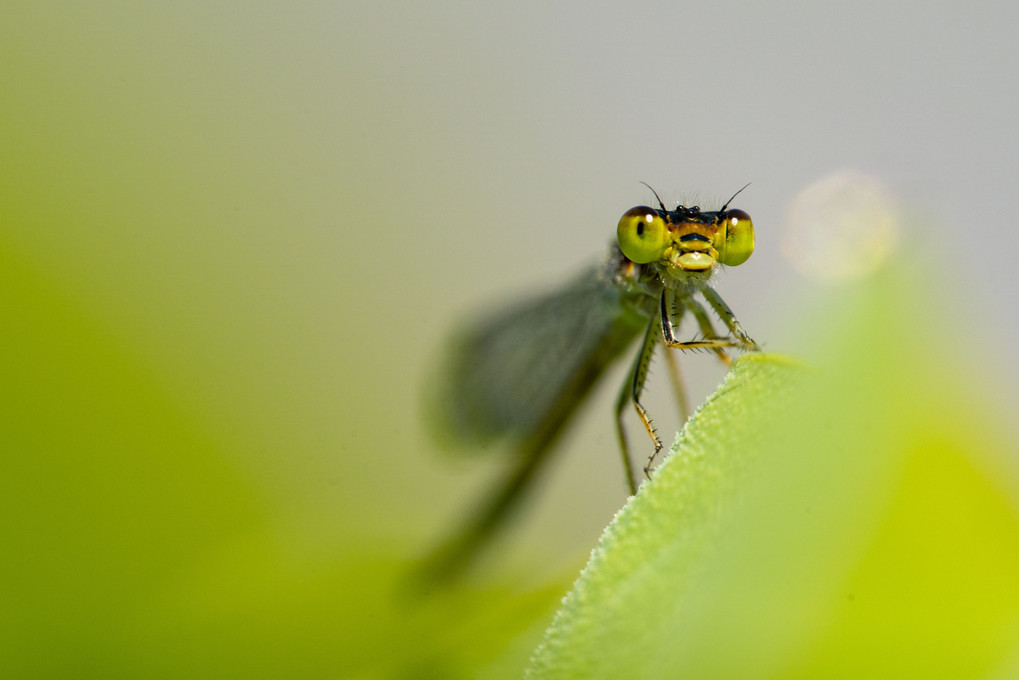
M 737 363 L 529 677 L 1016 677 L 1016 448 L 949 373 L 953 344 L 888 342 L 935 327 L 914 290 L 880 272 L 847 295 L 810 367 Z

